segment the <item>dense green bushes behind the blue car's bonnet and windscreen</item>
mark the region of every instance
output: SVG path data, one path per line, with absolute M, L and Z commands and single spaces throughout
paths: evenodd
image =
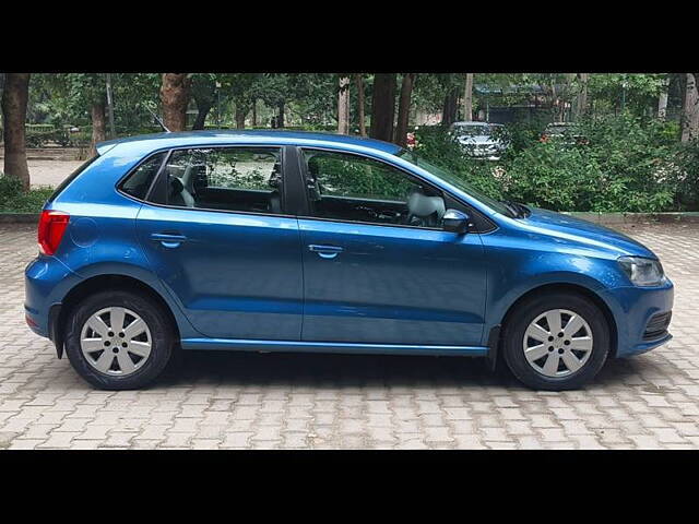
M 417 152 L 486 194 L 554 211 L 660 212 L 696 209 L 699 146 L 676 143 L 676 123 L 628 114 L 588 120 L 571 140 L 541 142 L 538 124 L 509 127 L 500 162 L 463 154 L 440 128 L 417 132 Z M 587 142 L 587 141 L 585 141 Z

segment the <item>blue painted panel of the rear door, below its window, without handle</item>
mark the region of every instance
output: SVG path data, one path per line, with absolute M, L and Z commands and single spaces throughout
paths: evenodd
M 300 337 L 303 269 L 294 217 L 144 204 L 138 236 L 151 269 L 206 336 Z M 187 237 L 179 246 L 153 235 Z

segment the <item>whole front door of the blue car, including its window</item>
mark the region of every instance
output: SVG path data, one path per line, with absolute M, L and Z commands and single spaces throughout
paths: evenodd
M 477 234 L 441 229 L 443 195 L 377 159 L 305 150 L 303 341 L 478 346 Z

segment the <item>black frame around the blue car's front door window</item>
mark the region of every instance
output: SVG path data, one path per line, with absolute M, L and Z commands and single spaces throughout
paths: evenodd
M 408 179 L 411 179 L 412 181 L 415 181 L 418 186 L 425 186 L 427 188 L 429 188 L 429 190 L 431 191 L 436 191 L 439 194 L 441 194 L 442 199 L 445 200 L 445 209 L 450 209 L 448 204 L 451 203 L 459 203 L 461 204 L 461 207 L 466 206 L 465 204 L 463 204 L 460 200 L 458 200 L 453 194 L 451 194 L 449 191 L 435 186 L 434 183 L 429 182 L 428 180 L 425 180 L 424 178 L 420 178 L 418 175 L 408 171 L 407 169 L 403 168 L 402 166 L 396 166 L 395 164 L 392 164 L 390 162 L 384 160 L 383 158 L 379 158 L 376 156 L 371 156 L 365 153 L 359 153 L 359 152 L 355 152 L 355 151 L 347 151 L 347 150 L 341 150 L 341 148 L 333 148 L 333 147 L 322 147 L 322 146 L 306 146 L 306 145 L 299 145 L 297 146 L 297 154 L 298 154 L 298 158 L 299 158 L 299 163 L 300 163 L 300 176 L 301 176 L 301 181 L 303 181 L 303 187 L 304 187 L 304 198 L 306 199 L 306 211 L 307 214 L 305 215 L 298 215 L 298 218 L 305 218 L 305 219 L 311 219 L 311 221 L 322 221 L 322 222 L 334 222 L 334 223 L 340 223 L 340 224 L 360 224 L 360 225 L 366 225 L 366 226 L 379 226 L 379 227 L 402 227 L 402 228 L 408 228 L 408 229 L 419 229 L 419 230 L 427 230 L 427 231 L 445 231 L 443 227 L 424 227 L 424 226 L 412 226 L 410 224 L 388 224 L 388 223 L 377 223 L 377 222 L 364 222 L 364 221 L 350 221 L 350 219 L 341 219 L 341 218 L 327 218 L 327 217 L 322 217 L 322 216 L 312 216 L 311 213 L 311 203 L 310 203 L 310 199 L 308 196 L 308 163 L 306 162 L 306 157 L 304 156 L 304 151 L 305 150 L 312 150 L 312 151 L 323 151 L 323 152 L 328 152 L 328 153 L 339 153 L 339 154 L 344 154 L 344 155 L 351 155 L 351 156 L 357 156 L 360 158 L 368 158 L 370 160 L 375 160 L 375 162 L 379 162 L 381 164 L 386 164 L 387 166 L 399 170 L 400 172 L 402 172 L 403 175 L 405 175 L 406 177 L 408 177 Z M 466 206 L 470 211 L 470 206 Z

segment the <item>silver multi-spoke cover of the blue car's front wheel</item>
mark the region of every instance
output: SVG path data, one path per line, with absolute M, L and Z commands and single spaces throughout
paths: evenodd
M 552 309 L 526 327 L 522 348 L 534 370 L 545 377 L 568 377 L 580 370 L 592 355 L 592 330 L 580 314 Z

